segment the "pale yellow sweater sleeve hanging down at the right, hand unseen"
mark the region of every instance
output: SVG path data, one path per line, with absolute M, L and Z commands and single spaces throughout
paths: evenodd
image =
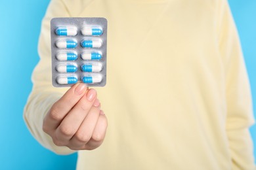
M 226 134 L 232 169 L 256 169 L 249 126 L 254 123 L 251 92 L 240 41 L 226 1 L 218 12 L 219 49 L 226 71 Z

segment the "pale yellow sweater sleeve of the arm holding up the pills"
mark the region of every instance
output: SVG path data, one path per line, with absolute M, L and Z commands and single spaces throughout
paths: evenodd
M 51 35 L 50 22 L 54 17 L 69 17 L 70 14 L 62 1 L 50 2 L 41 25 L 38 52 L 39 63 L 32 75 L 33 89 L 24 108 L 24 120 L 33 137 L 45 148 L 56 154 L 70 154 L 66 146 L 56 146 L 51 137 L 42 130 L 43 118 L 55 101 L 57 101 L 67 88 L 54 88 L 51 84 Z

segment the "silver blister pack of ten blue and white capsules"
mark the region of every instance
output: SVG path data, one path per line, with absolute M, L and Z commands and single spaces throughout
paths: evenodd
M 53 86 L 68 87 L 77 82 L 105 86 L 106 44 L 105 18 L 53 18 Z

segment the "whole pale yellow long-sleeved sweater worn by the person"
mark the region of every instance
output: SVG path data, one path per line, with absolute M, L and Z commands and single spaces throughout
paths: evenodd
M 58 154 L 43 117 L 67 88 L 51 85 L 50 20 L 108 19 L 108 117 L 102 146 L 79 151 L 77 169 L 255 169 L 251 95 L 225 0 L 53 0 L 24 119 Z

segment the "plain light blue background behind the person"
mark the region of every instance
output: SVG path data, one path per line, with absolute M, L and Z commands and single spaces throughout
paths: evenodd
M 49 0 L 0 0 L 0 169 L 75 169 L 77 155 L 57 156 L 40 146 L 26 128 L 22 112 L 39 60 L 37 41 Z M 256 108 L 256 1 L 230 0 Z M 256 113 L 256 110 L 255 110 Z M 256 146 L 256 126 L 251 127 Z M 256 150 L 254 150 L 256 156 Z

